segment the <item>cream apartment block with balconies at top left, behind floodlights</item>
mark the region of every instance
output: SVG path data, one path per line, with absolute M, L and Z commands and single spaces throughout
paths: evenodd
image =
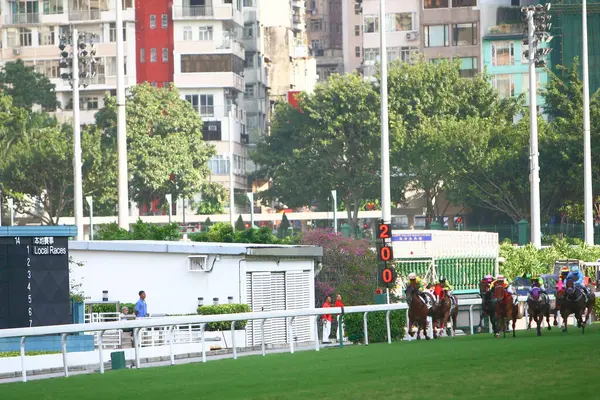
M 123 0 L 123 27 L 117 30 L 114 1 L 108 0 L 1 0 L 0 63 L 23 60 L 56 85 L 60 104 L 57 117 L 66 121 L 73 108 L 72 90 L 60 78 L 59 37 L 71 27 L 80 33 L 94 34 L 97 47 L 97 75 L 87 87 L 80 87 L 82 123 L 92 123 L 103 107 L 107 92 L 116 89 L 116 38 L 125 39 L 125 84 L 136 83 L 135 10 L 133 0 Z

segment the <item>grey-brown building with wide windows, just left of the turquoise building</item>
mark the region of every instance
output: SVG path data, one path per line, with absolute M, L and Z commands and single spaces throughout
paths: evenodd
M 422 0 L 421 45 L 430 60 L 460 58 L 464 77 L 480 72 L 477 0 Z

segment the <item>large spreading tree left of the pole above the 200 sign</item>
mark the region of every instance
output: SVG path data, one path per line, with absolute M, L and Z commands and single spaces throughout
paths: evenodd
M 326 203 L 335 189 L 356 227 L 362 201 L 379 192 L 378 93 L 358 75 L 333 75 L 299 108 L 278 104 L 271 135 L 252 153 L 273 180 L 263 197 L 300 207 Z

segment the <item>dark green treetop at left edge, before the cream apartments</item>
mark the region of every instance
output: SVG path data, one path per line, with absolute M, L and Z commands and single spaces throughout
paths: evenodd
M 7 62 L 0 71 L 0 89 L 11 96 L 13 105 L 31 110 L 34 105 L 54 110 L 58 105 L 54 84 L 26 66 L 22 60 Z

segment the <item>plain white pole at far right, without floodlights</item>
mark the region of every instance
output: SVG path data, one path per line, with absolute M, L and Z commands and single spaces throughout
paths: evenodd
M 590 76 L 588 62 L 587 41 L 587 0 L 583 0 L 583 181 L 584 181 L 584 205 L 585 213 L 585 243 L 594 245 L 594 210 L 592 191 L 592 141 L 590 138 Z

